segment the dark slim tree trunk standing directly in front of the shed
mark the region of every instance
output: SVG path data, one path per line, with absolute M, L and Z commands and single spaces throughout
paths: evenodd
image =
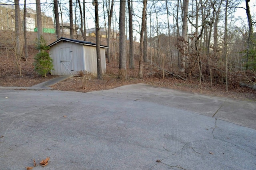
M 81 16 L 82 17 L 82 16 Z M 99 27 L 99 15 L 98 15 L 98 0 L 95 0 L 95 33 L 96 33 L 96 53 L 97 53 L 97 75 L 98 79 L 102 79 L 103 73 L 101 68 L 100 57 L 100 27 Z

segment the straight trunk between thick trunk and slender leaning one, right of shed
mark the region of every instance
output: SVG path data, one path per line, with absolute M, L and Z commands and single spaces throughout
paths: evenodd
M 134 46 L 133 46 L 133 26 L 132 26 L 132 0 L 128 0 L 128 15 L 129 15 L 129 43 L 130 43 L 130 62 L 129 68 L 134 69 Z

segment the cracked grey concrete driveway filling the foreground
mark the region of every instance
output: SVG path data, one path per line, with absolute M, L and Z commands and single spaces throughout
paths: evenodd
M 0 89 L 0 169 L 254 170 L 255 108 L 144 84 Z

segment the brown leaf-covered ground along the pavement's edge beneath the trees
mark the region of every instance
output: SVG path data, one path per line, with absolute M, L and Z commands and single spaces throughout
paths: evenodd
M 27 61 L 17 61 L 11 52 L 6 52 L 0 49 L 0 86 L 10 87 L 31 87 L 38 83 L 42 83 L 54 77 L 55 75 L 47 75 L 47 77 L 41 77 L 34 71 L 34 55 L 37 53 L 36 50 L 29 50 L 29 57 Z M 21 76 L 19 67 L 21 68 Z M 176 89 L 180 91 L 187 91 L 191 93 L 200 93 L 205 95 L 213 95 L 218 97 L 229 97 L 239 100 L 256 101 L 256 91 L 247 87 L 236 87 L 229 91 L 225 90 L 225 85 L 213 85 L 210 87 L 210 83 L 200 83 L 198 80 L 182 80 L 174 77 L 162 77 L 161 71 L 157 70 L 152 65 L 144 64 L 144 78 L 138 78 L 138 64 L 136 69 L 127 69 L 128 79 L 118 79 L 118 64 L 116 61 L 107 63 L 107 73 L 104 74 L 103 80 L 99 80 L 96 77 L 92 77 L 86 81 L 86 87 L 82 88 L 81 77 L 74 76 L 70 79 L 57 83 L 52 86 L 53 89 L 62 91 L 78 91 L 78 92 L 89 92 L 113 89 L 123 85 L 130 85 L 136 83 L 145 83 L 156 87 L 164 87 L 170 89 Z

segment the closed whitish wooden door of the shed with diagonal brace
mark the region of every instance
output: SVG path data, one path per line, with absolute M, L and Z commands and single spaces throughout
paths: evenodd
M 71 47 L 60 48 L 61 75 L 72 75 L 72 51 Z

